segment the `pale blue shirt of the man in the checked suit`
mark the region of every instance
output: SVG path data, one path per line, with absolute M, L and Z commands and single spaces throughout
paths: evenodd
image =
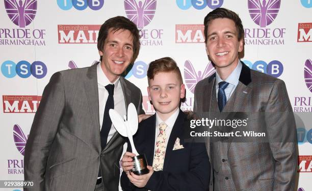
M 239 63 L 237 64 L 236 68 L 232 71 L 232 73 L 227 77 L 226 80 L 222 80 L 216 70 L 216 95 L 217 95 L 217 101 L 218 101 L 218 91 L 219 91 L 219 82 L 228 82 L 228 86 L 224 89 L 226 101 L 232 96 L 236 86 L 239 83 L 241 71 L 242 71 L 242 63 L 239 60 Z

